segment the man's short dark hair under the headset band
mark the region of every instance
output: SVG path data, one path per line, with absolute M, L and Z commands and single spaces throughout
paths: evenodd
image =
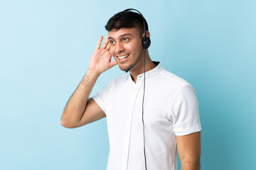
M 146 30 L 149 30 L 146 20 L 145 26 Z M 107 31 L 119 30 L 120 28 L 138 28 L 139 33 L 144 33 L 142 16 L 139 13 L 134 13 L 132 11 L 122 11 L 116 13 L 110 18 L 109 21 L 107 21 L 107 25 L 105 26 L 105 28 Z

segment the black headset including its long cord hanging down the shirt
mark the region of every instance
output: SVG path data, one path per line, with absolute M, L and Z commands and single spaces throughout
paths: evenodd
M 127 8 L 124 11 L 137 11 L 142 16 L 142 13 L 140 13 L 137 9 L 134 9 L 134 8 Z M 148 25 L 146 23 L 146 19 L 144 18 L 144 16 L 142 16 L 142 19 L 143 19 L 143 26 L 144 26 L 144 38 L 142 38 L 142 50 L 144 50 L 144 89 L 143 89 L 143 99 L 142 99 L 142 125 L 143 125 L 143 141 L 144 141 L 144 160 L 145 160 L 145 169 L 146 169 L 145 132 L 144 132 L 145 130 L 144 128 L 144 96 L 145 96 L 145 80 L 146 80 L 145 79 L 145 71 L 146 71 L 145 70 L 145 67 L 146 67 L 145 50 L 149 48 L 151 44 L 151 40 L 149 37 L 146 37 L 146 30 L 149 30 Z M 139 57 L 142 54 L 142 50 L 139 53 Z M 139 57 L 137 62 L 139 61 Z M 135 64 L 137 64 L 137 62 L 135 62 Z M 134 67 L 135 64 L 133 64 L 132 67 Z M 129 70 L 132 69 L 132 67 L 129 67 L 129 69 L 126 69 L 125 72 L 129 72 Z

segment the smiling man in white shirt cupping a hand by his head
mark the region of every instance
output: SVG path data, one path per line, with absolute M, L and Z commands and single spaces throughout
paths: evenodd
M 108 170 L 200 169 L 201 124 L 198 101 L 187 81 L 152 62 L 142 45 L 150 38 L 143 16 L 115 14 L 97 42 L 89 67 L 70 97 L 61 124 L 77 128 L 106 117 L 110 139 Z M 102 44 L 102 47 L 101 47 Z M 114 61 L 111 62 L 111 57 Z M 125 74 L 88 98 L 97 78 L 118 64 Z M 144 74 L 145 72 L 145 74 Z

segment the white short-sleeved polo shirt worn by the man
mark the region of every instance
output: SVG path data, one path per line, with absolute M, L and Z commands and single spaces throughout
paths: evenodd
M 196 92 L 187 81 L 162 69 L 146 72 L 144 128 L 148 170 L 176 170 L 176 135 L 201 130 Z M 144 170 L 142 98 L 144 74 L 137 83 L 125 74 L 92 98 L 105 112 L 110 140 L 107 170 Z

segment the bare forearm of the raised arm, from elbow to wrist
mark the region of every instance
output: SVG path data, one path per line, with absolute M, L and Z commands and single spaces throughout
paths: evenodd
M 61 117 L 61 124 L 63 126 L 72 127 L 76 123 L 80 122 L 82 114 L 85 111 L 90 91 L 92 91 L 92 87 L 95 85 L 95 82 L 99 76 L 100 73 L 91 69 L 87 70 L 78 88 L 75 90 L 65 106 L 63 115 Z

